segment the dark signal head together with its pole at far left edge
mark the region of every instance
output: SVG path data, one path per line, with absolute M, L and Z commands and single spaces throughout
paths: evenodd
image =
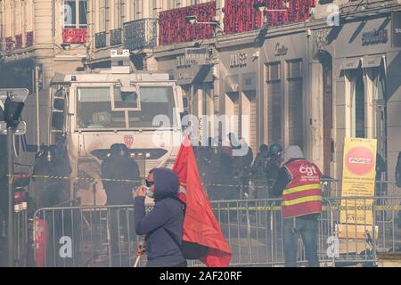
M 20 122 L 20 114 L 24 108 L 29 91 L 27 89 L 0 89 L 0 100 L 4 102 L 4 122 L 0 122 L 1 134 L 7 134 L 7 184 L 8 184 L 8 223 L 7 223 L 7 247 L 8 266 L 14 265 L 13 244 L 13 183 L 14 169 L 12 161 L 12 145 L 14 134 L 25 134 L 25 123 Z

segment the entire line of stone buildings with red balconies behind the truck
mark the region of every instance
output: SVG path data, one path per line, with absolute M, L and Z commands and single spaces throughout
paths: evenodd
M 259 3 L 0 0 L 2 69 L 16 69 L 3 78 L 32 78 L 37 63 L 45 82 L 55 71 L 107 68 L 111 49 L 129 49 L 132 70 L 168 72 L 182 86 L 199 139 L 224 136 L 226 115 L 229 131 L 254 153 L 261 143 L 299 144 L 324 174 L 340 178 L 344 137 L 376 138 L 388 166 L 383 179 L 394 182 L 400 1 L 297 0 L 288 12 L 263 13 Z

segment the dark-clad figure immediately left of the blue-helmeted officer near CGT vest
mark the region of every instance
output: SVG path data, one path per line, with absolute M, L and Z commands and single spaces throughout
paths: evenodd
M 266 199 L 269 198 L 268 192 L 268 181 L 267 181 L 267 163 L 269 147 L 266 144 L 262 144 L 259 148 L 259 153 L 250 167 L 250 175 L 252 182 L 255 185 L 255 195 L 252 195 L 254 199 Z

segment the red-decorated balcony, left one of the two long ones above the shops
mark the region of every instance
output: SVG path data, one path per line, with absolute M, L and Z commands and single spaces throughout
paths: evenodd
M 196 16 L 200 22 L 211 22 L 216 16 L 216 2 L 160 12 L 160 45 L 171 45 L 214 37 L 215 27 L 213 25 L 190 25 L 185 21 L 187 16 Z

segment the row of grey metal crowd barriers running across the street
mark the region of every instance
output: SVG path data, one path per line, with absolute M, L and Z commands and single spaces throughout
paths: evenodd
M 401 196 L 325 197 L 318 219 L 321 265 L 374 265 L 378 253 L 401 251 L 400 200 Z M 233 250 L 231 265 L 284 265 L 280 205 L 280 199 L 211 202 Z M 341 212 L 349 219 L 341 220 Z M 132 206 L 37 210 L 34 218 L 36 265 L 133 266 L 135 249 L 141 241 L 133 228 L 133 215 Z M 300 239 L 298 250 L 299 265 L 307 265 Z M 143 256 L 140 266 L 145 263 L 146 256 Z M 189 265 L 203 266 L 200 261 L 190 261 Z

